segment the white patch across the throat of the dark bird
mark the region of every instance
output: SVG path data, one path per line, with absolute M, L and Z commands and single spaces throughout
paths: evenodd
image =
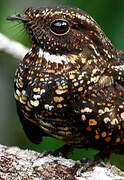
M 66 64 L 67 62 L 69 62 L 69 58 L 67 56 L 59 54 L 50 54 L 47 51 L 43 51 L 42 48 L 39 48 L 39 57 L 44 57 L 47 62 L 51 63 L 55 62 L 59 64 Z

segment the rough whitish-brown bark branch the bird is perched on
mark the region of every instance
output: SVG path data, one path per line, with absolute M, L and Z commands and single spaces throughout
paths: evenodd
M 79 161 L 61 156 L 0 145 L 1 180 L 124 180 L 124 172 L 113 166 L 95 166 L 77 175 L 80 167 Z

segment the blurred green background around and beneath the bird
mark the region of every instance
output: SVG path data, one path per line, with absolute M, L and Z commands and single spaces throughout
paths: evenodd
M 124 0 L 0 0 L 0 33 L 31 47 L 31 42 L 22 24 L 8 22 L 6 17 L 22 12 L 27 7 L 41 6 L 79 7 L 100 24 L 106 35 L 119 50 L 124 50 Z M 1 42 L 0 42 L 1 43 Z M 13 77 L 19 61 L 0 52 L 0 144 L 19 146 L 39 152 L 55 150 L 63 143 L 54 138 L 44 138 L 40 145 L 34 145 L 24 134 L 16 114 L 13 97 Z M 94 150 L 75 150 L 72 159 L 83 156 L 93 158 Z M 112 154 L 111 163 L 124 170 L 124 156 Z

